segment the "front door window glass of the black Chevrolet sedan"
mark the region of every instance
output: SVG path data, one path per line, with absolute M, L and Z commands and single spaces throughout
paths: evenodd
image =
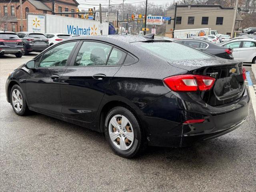
M 38 67 L 66 66 L 68 57 L 75 44 L 76 42 L 68 42 L 48 50 L 43 54 Z

